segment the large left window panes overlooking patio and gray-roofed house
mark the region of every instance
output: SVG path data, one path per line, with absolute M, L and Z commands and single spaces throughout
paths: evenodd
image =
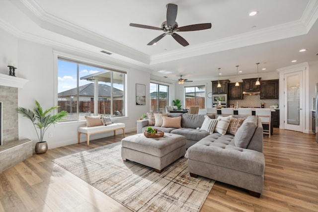
M 85 116 L 125 116 L 124 71 L 58 58 L 59 111 L 69 112 L 67 120 Z

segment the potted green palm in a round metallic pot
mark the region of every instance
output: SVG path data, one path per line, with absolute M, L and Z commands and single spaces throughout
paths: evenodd
M 58 123 L 59 121 L 63 120 L 63 118 L 68 115 L 68 112 L 63 110 L 55 115 L 51 115 L 49 113 L 60 106 L 51 107 L 50 109 L 47 109 L 43 112 L 43 109 L 40 106 L 39 102 L 35 100 L 35 104 L 36 107 L 34 107 L 33 110 L 19 107 L 17 111 L 32 122 L 39 139 L 39 141 L 35 145 L 35 152 L 37 154 L 41 154 L 45 153 L 48 150 L 47 142 L 43 141 L 45 132 L 52 124 Z

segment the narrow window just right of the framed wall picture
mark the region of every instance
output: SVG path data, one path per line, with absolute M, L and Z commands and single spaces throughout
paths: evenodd
M 169 86 L 150 83 L 150 111 L 165 113 L 168 105 Z

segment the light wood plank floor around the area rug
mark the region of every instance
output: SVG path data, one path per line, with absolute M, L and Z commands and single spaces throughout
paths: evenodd
M 126 136 L 135 133 L 127 133 Z M 0 173 L 0 212 L 130 211 L 51 160 L 121 141 L 122 135 L 50 149 Z M 318 143 L 314 135 L 274 129 L 264 136 L 260 198 L 216 182 L 201 212 L 318 211 Z M 235 177 L 235 176 L 234 176 Z

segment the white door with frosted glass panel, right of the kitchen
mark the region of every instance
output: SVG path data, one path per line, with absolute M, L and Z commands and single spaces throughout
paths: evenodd
M 285 74 L 284 128 L 303 132 L 303 71 Z

